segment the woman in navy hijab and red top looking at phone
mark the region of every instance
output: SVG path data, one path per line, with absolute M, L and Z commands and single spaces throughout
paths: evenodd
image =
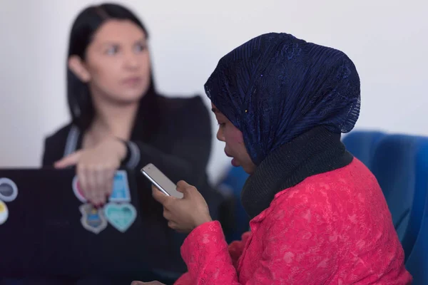
M 179 182 L 183 199 L 153 189 L 169 226 L 191 231 L 176 284 L 410 284 L 382 190 L 340 142 L 360 112 L 345 53 L 264 34 L 224 56 L 205 91 L 218 140 L 250 174 L 251 232 L 228 247 L 195 187 Z

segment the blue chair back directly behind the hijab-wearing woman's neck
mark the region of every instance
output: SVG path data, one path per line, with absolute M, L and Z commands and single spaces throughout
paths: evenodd
M 377 143 L 386 134 L 378 131 L 355 130 L 345 135 L 342 142 L 347 150 L 358 160 L 364 163 L 370 170 L 372 169 L 372 158 L 376 150 Z

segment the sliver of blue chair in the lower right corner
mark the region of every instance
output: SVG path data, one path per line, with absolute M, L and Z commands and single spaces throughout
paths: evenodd
M 421 229 L 406 262 L 406 268 L 413 276 L 414 285 L 428 284 L 428 197 L 424 204 L 425 211 Z

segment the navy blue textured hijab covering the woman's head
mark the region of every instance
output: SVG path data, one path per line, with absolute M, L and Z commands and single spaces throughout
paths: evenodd
M 255 165 L 317 126 L 347 133 L 360 113 L 350 58 L 287 33 L 263 34 L 225 55 L 205 92 L 243 133 Z

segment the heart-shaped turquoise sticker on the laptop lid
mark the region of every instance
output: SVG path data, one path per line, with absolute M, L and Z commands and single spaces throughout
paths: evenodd
M 108 222 L 120 232 L 126 232 L 136 220 L 137 211 L 128 203 L 108 203 L 104 207 L 104 215 Z

